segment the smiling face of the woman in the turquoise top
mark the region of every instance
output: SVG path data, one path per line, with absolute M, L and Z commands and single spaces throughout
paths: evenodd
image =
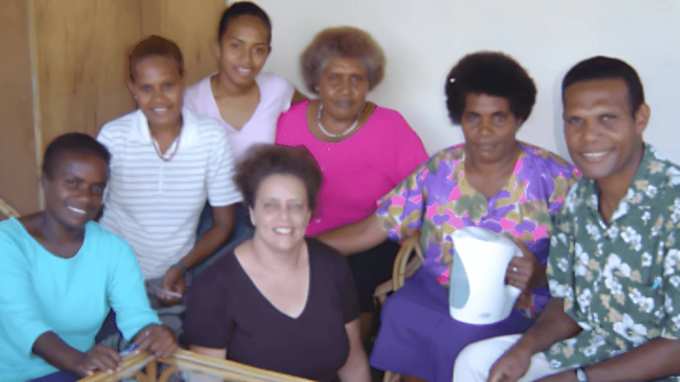
M 46 212 L 62 226 L 82 228 L 101 208 L 106 187 L 107 167 L 92 154 L 66 151 L 54 158 L 50 173 L 44 173 Z

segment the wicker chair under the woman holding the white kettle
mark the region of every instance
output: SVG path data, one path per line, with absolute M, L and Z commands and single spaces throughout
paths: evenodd
M 384 304 L 390 292 L 396 292 L 403 287 L 404 280 L 418 271 L 422 265 L 424 258 L 422 249 L 420 249 L 420 231 L 417 235 L 413 235 L 401 243 L 401 248 L 394 258 L 394 267 L 392 268 L 392 279 L 381 283 L 378 288 L 375 288 L 373 297 L 381 304 Z M 386 371 L 383 382 L 399 381 L 401 375 Z

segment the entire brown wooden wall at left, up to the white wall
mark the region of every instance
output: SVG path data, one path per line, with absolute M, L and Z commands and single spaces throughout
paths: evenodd
M 177 42 L 188 84 L 214 71 L 224 3 L 0 1 L 0 198 L 20 213 L 37 210 L 46 145 L 71 131 L 96 135 L 135 108 L 125 86 L 127 56 L 142 37 L 155 33 Z

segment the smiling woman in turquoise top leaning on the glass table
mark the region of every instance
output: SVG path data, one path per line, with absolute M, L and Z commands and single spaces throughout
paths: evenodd
M 118 352 L 95 345 L 112 308 L 139 351 L 167 357 L 177 347 L 149 307 L 130 246 L 92 222 L 108 165 L 109 153 L 88 135 L 56 138 L 41 175 L 46 209 L 0 222 L 0 381 L 73 381 L 116 369 Z

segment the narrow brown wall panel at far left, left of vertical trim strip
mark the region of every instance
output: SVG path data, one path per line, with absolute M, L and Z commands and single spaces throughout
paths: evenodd
M 0 1 L 0 198 L 22 214 L 38 208 L 28 6 Z

